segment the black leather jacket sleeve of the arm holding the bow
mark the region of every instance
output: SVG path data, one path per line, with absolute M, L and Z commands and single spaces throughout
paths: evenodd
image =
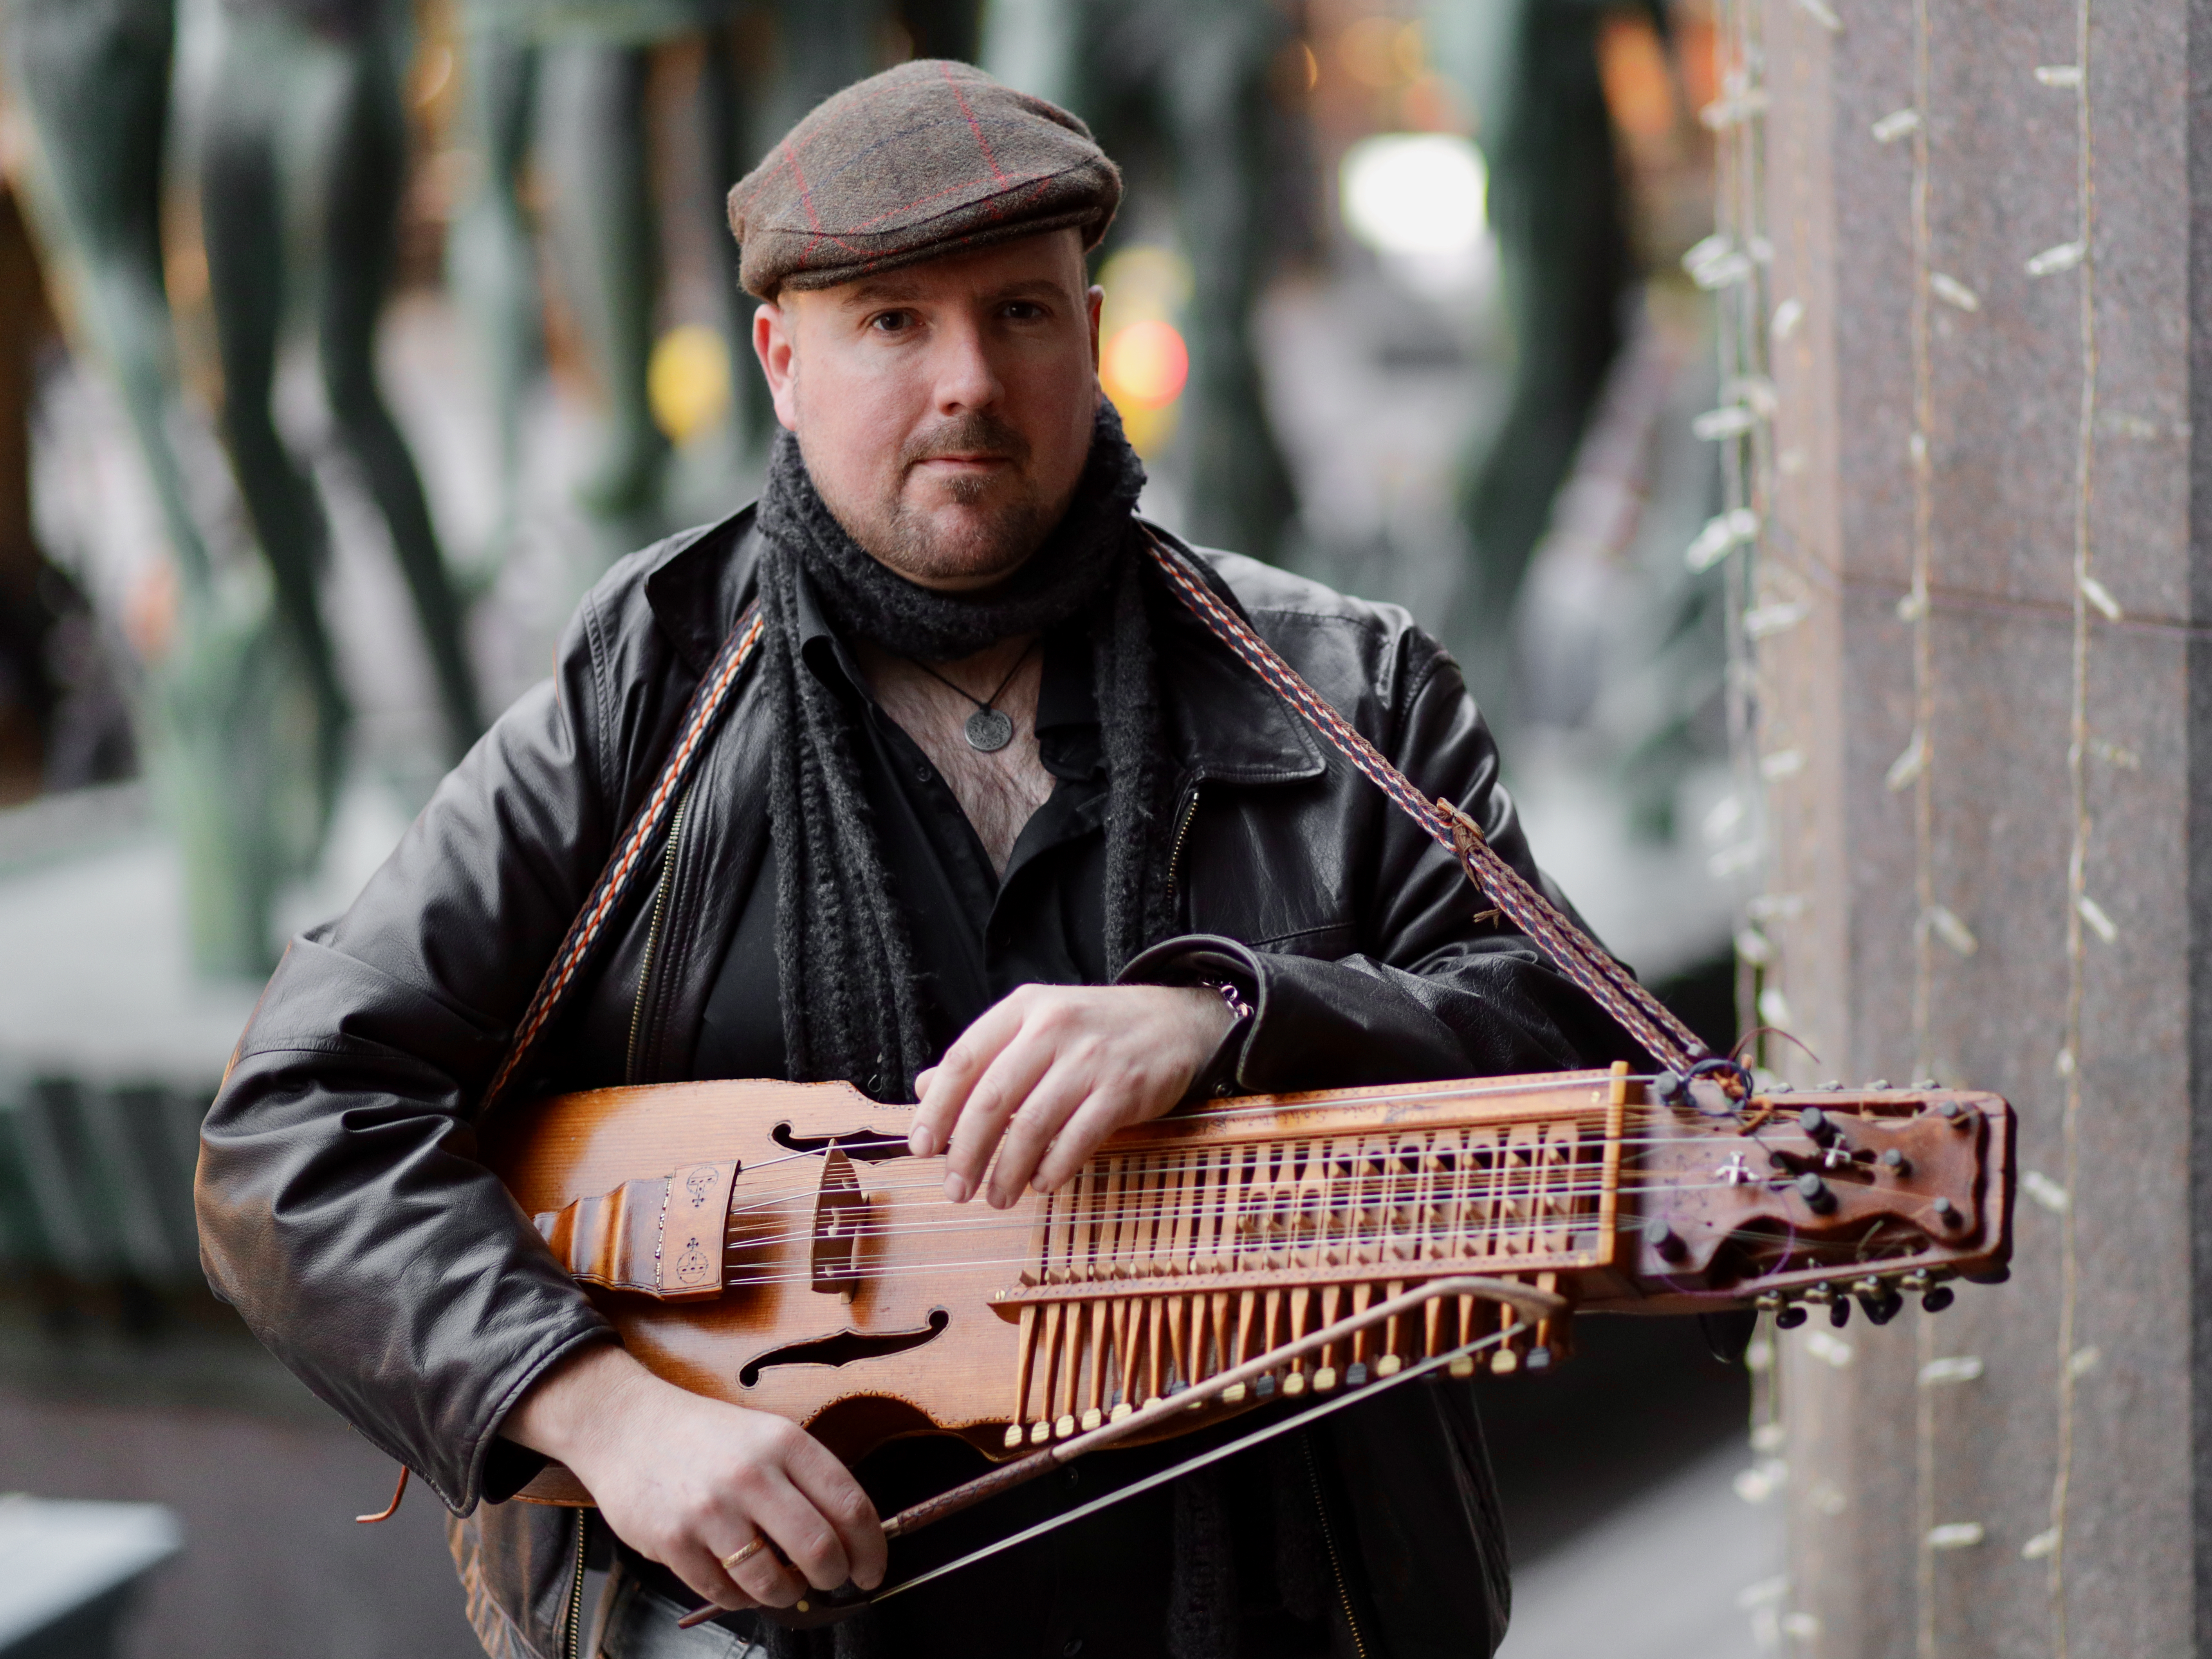
M 500 1420 L 611 1336 L 471 1126 L 606 858 L 622 750 L 650 737 L 602 639 L 586 599 L 555 679 L 445 779 L 345 916 L 292 940 L 201 1130 L 217 1294 L 458 1513 L 535 1471 Z

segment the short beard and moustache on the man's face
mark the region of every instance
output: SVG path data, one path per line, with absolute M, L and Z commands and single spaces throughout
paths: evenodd
M 801 453 L 805 445 L 801 442 Z M 984 451 L 1006 456 L 1020 467 L 1029 460 L 1029 440 L 989 414 L 967 414 L 945 420 L 914 438 L 898 453 L 898 482 L 905 484 L 916 465 L 945 453 Z M 818 480 L 818 473 L 816 473 Z M 818 487 L 818 484 L 816 484 Z M 1000 478 L 953 478 L 945 484 L 945 495 L 962 507 L 984 502 L 991 491 L 1004 489 Z M 1073 498 L 1073 489 L 1071 489 Z M 962 524 L 947 531 L 936 524 L 929 509 L 907 502 L 905 489 L 894 491 L 889 511 L 863 518 L 849 502 L 823 502 L 836 515 L 845 533 L 852 535 L 880 564 L 909 580 L 942 577 L 993 577 L 1004 580 L 1020 571 L 1029 557 L 1044 546 L 1044 538 L 1068 511 L 1068 502 L 1042 500 L 1033 489 L 1022 489 L 982 524 Z

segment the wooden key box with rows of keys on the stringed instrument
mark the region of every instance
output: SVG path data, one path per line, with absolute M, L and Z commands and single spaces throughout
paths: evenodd
M 1042 1210 L 1022 1285 L 1006 1444 L 1044 1444 L 1177 1394 L 1442 1274 L 1517 1276 L 1608 1259 L 1606 1121 L 1559 1113 L 1495 1126 L 1168 1141 L 1093 1159 Z M 1261 1378 L 1298 1396 L 1391 1376 L 1513 1323 L 1478 1298 L 1433 1301 L 1345 1352 Z M 1544 1360 L 1564 1340 L 1537 1332 Z M 1232 1391 L 1225 1405 L 1243 1402 Z

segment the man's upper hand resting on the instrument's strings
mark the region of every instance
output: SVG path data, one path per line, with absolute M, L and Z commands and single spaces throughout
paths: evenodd
M 916 1079 L 914 1155 L 945 1150 L 953 1203 L 1051 1192 L 1117 1128 L 1175 1106 L 1230 1024 L 1203 987 L 1024 984 Z

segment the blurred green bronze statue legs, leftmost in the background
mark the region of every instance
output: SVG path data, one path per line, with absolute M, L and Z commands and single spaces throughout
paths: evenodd
M 175 560 L 175 617 L 148 664 L 153 765 L 186 863 L 192 958 L 259 975 L 281 885 L 321 849 L 345 757 L 347 701 L 321 613 L 330 531 L 276 438 L 270 394 L 288 292 L 314 294 L 325 392 L 383 509 L 438 675 L 447 748 L 480 726 L 453 593 L 422 489 L 374 380 L 403 168 L 396 58 L 380 7 L 332 0 L 221 13 L 204 122 L 201 217 L 223 361 L 223 434 L 265 560 L 215 557 L 179 436 L 161 197 L 173 0 L 9 0 L 7 62 L 38 139 L 49 254 L 80 332 L 113 376 Z M 314 221 L 312 270 L 292 208 Z

